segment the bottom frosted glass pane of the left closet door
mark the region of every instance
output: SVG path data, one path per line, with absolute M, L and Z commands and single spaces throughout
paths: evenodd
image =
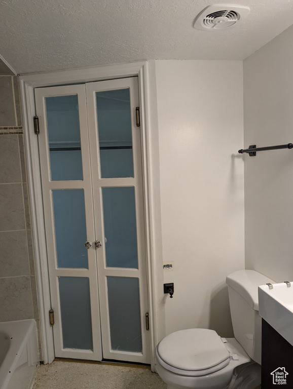
M 59 277 L 63 347 L 93 349 L 89 279 Z

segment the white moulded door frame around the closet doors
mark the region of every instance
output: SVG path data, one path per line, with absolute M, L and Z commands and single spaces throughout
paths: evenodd
M 140 128 L 141 128 L 141 151 L 143 171 L 143 196 L 145 215 L 145 242 L 146 242 L 146 266 L 148 271 L 148 292 L 149 292 L 149 313 L 150 313 L 150 351 L 152 370 L 155 366 L 155 347 L 161 336 L 158 327 L 158 316 L 161 322 L 160 327 L 164 332 L 164 313 L 159 312 L 158 296 L 161 293 L 156 291 L 156 285 L 163 280 L 163 269 L 160 262 L 155 258 L 162 258 L 161 254 L 161 218 L 158 199 L 159 192 L 159 159 L 158 141 L 152 139 L 151 129 L 157 129 L 156 102 L 150 88 L 149 62 L 135 62 L 123 65 L 109 65 L 95 68 L 83 68 L 76 70 L 64 70 L 54 73 L 32 74 L 20 76 L 21 101 L 23 111 L 23 129 L 26 148 L 28 187 L 30 194 L 30 211 L 32 218 L 32 233 L 34 239 L 34 257 L 36 282 L 38 286 L 38 298 L 40 308 L 41 341 L 44 363 L 51 363 L 54 360 L 53 331 L 48 316 L 51 308 L 49 273 L 47 265 L 47 251 L 45 240 L 45 223 L 43 216 L 43 200 L 41 188 L 41 175 L 39 166 L 38 139 L 34 134 L 33 116 L 34 88 L 49 87 L 57 85 L 68 85 L 76 83 L 88 83 L 93 81 L 118 79 L 121 77 L 138 76 L 139 100 L 140 100 Z M 154 66 L 151 71 L 154 74 Z M 153 88 L 155 85 L 152 86 Z M 151 99 L 152 95 L 152 99 Z M 152 111 L 152 107 L 155 110 Z M 154 142 L 155 141 L 155 142 Z M 152 155 L 152 152 L 155 152 Z M 156 174 L 155 174 L 156 173 Z M 161 269 L 161 271 L 159 270 Z

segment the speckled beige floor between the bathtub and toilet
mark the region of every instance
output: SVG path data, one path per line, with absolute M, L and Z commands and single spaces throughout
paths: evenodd
M 166 389 L 149 366 L 55 360 L 38 368 L 32 389 Z

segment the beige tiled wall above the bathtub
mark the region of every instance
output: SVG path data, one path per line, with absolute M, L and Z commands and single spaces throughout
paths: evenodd
M 0 75 L 0 107 L 0 322 L 39 327 L 17 76 Z

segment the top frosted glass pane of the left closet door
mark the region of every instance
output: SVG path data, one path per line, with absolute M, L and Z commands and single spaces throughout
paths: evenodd
M 78 96 L 46 97 L 52 181 L 82 180 Z

